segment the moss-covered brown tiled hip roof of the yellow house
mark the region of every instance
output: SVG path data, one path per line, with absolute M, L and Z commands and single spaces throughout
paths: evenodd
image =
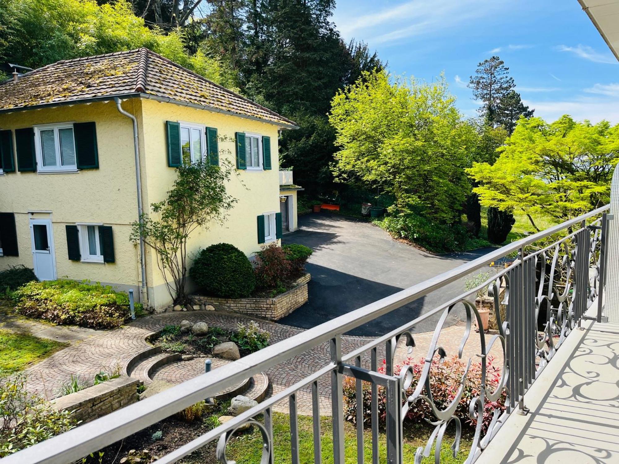
M 58 61 L 22 74 L 0 84 L 0 111 L 136 93 L 296 125 L 147 48 Z

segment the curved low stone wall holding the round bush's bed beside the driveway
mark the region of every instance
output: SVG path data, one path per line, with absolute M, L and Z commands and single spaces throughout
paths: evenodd
M 294 288 L 275 298 L 217 298 L 215 296 L 191 295 L 200 304 L 210 304 L 220 311 L 236 311 L 249 316 L 278 320 L 288 316 L 308 301 L 308 282 L 311 278 L 305 273 L 295 282 Z

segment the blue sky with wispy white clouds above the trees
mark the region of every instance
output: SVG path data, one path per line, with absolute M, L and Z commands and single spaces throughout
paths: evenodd
M 394 74 L 444 72 L 466 116 L 469 77 L 495 54 L 535 116 L 619 123 L 619 62 L 576 0 L 337 0 L 333 20 Z

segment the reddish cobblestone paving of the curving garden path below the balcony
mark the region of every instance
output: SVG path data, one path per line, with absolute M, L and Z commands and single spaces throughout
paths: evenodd
M 97 372 L 101 370 L 109 372 L 113 371 L 116 366 L 122 367 L 126 365 L 129 359 L 151 346 L 145 341 L 146 337 L 163 329 L 165 325 L 180 324 L 183 319 L 191 322 L 202 321 L 212 326 L 235 330 L 239 322 L 246 323 L 251 320 L 251 317 L 220 311 L 172 312 L 144 317 L 125 327 L 121 327 L 121 329 L 102 331 L 98 335 L 90 337 L 77 345 L 69 346 L 53 354 L 50 358 L 41 361 L 41 363 L 30 367 L 27 370 L 29 389 L 33 392 L 44 394 L 48 398 L 53 398 L 56 396 L 54 393 L 58 391 L 59 384 L 68 380 L 71 374 L 77 374 L 82 379 L 89 380 L 90 384 L 92 384 L 92 378 Z M 275 322 L 262 320 L 257 322 L 262 329 L 268 330 L 271 333 L 271 344 L 303 332 L 303 329 L 296 329 L 295 327 Z M 441 332 L 439 346 L 443 346 L 448 356 L 457 354 L 463 333 L 464 327 L 461 325 L 448 327 Z M 407 357 L 417 360 L 426 356 L 432 333 L 418 333 L 415 334 L 414 338 L 415 348 L 411 354 L 407 353 L 407 347 L 403 343 L 399 344 L 396 350 L 396 363 L 401 362 Z M 371 342 L 371 340 L 373 338 L 344 336 L 342 337 L 342 352 L 350 353 L 360 346 Z M 403 342 L 403 340 L 400 340 L 400 342 Z M 493 348 L 493 351 L 495 351 L 495 348 Z M 480 353 L 480 337 L 477 333 L 472 332 L 464 346 L 463 358 L 467 359 L 469 356 L 473 356 L 473 361 L 475 361 L 477 353 Z M 502 357 L 498 351 L 496 351 L 496 356 L 497 358 Z M 322 343 L 311 350 L 305 351 L 305 353 L 267 369 L 265 374 L 269 377 L 272 386 L 269 389 L 269 396 L 281 392 L 290 387 L 290 385 L 312 374 L 316 369 L 325 366 L 329 363 L 329 359 L 328 344 Z M 384 359 L 384 346 L 378 347 L 378 359 L 379 363 Z M 369 362 L 368 354 L 362 359 L 362 363 L 364 366 L 368 366 Z M 201 363 L 203 369 L 203 361 Z M 165 367 L 162 370 L 165 371 Z M 175 367 L 170 367 L 170 372 L 174 370 Z M 197 367 L 192 369 L 191 372 L 194 370 L 196 375 L 202 373 L 202 370 Z M 170 375 L 178 376 L 180 374 Z M 331 414 L 330 382 L 329 376 L 319 379 L 319 403 L 321 414 L 323 415 Z M 297 393 L 297 400 L 298 412 L 303 415 L 311 415 L 311 390 L 309 387 L 301 389 Z M 287 412 L 287 402 L 278 403 L 274 406 L 274 410 Z

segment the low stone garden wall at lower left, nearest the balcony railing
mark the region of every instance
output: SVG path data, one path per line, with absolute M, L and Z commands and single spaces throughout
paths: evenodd
M 64 397 L 51 404 L 59 411 L 74 411 L 78 421 L 88 422 L 137 402 L 137 385 L 141 380 L 118 377 Z

